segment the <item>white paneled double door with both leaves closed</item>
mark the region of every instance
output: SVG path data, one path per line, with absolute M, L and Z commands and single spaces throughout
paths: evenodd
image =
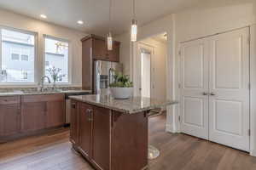
M 249 150 L 249 29 L 181 44 L 181 131 Z

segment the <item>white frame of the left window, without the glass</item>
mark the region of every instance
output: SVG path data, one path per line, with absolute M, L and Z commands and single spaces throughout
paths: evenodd
M 14 27 L 9 26 L 1 26 L 0 25 L 0 71 L 2 71 L 2 51 L 3 51 L 3 45 L 2 45 L 2 29 L 9 30 L 9 31 L 17 31 L 24 34 L 29 34 L 34 37 L 34 82 L 2 82 L 0 81 L 0 86 L 35 86 L 38 84 L 38 32 L 36 31 L 27 31 L 23 29 L 17 29 Z

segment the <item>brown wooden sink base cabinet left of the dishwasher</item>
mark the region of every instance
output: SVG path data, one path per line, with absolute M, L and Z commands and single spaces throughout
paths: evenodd
M 63 94 L 22 96 L 21 131 L 26 133 L 63 125 L 64 101 Z

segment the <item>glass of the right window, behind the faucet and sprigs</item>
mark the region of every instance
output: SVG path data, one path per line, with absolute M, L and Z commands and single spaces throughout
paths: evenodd
M 59 76 L 57 82 L 67 83 L 68 82 L 68 42 L 60 41 L 53 37 L 44 37 L 44 74 L 50 77 L 49 69 L 59 70 Z

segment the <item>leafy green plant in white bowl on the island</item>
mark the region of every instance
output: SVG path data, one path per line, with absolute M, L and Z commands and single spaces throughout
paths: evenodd
M 129 99 L 133 93 L 133 84 L 127 75 L 113 71 L 113 82 L 110 83 L 110 92 L 114 99 Z

